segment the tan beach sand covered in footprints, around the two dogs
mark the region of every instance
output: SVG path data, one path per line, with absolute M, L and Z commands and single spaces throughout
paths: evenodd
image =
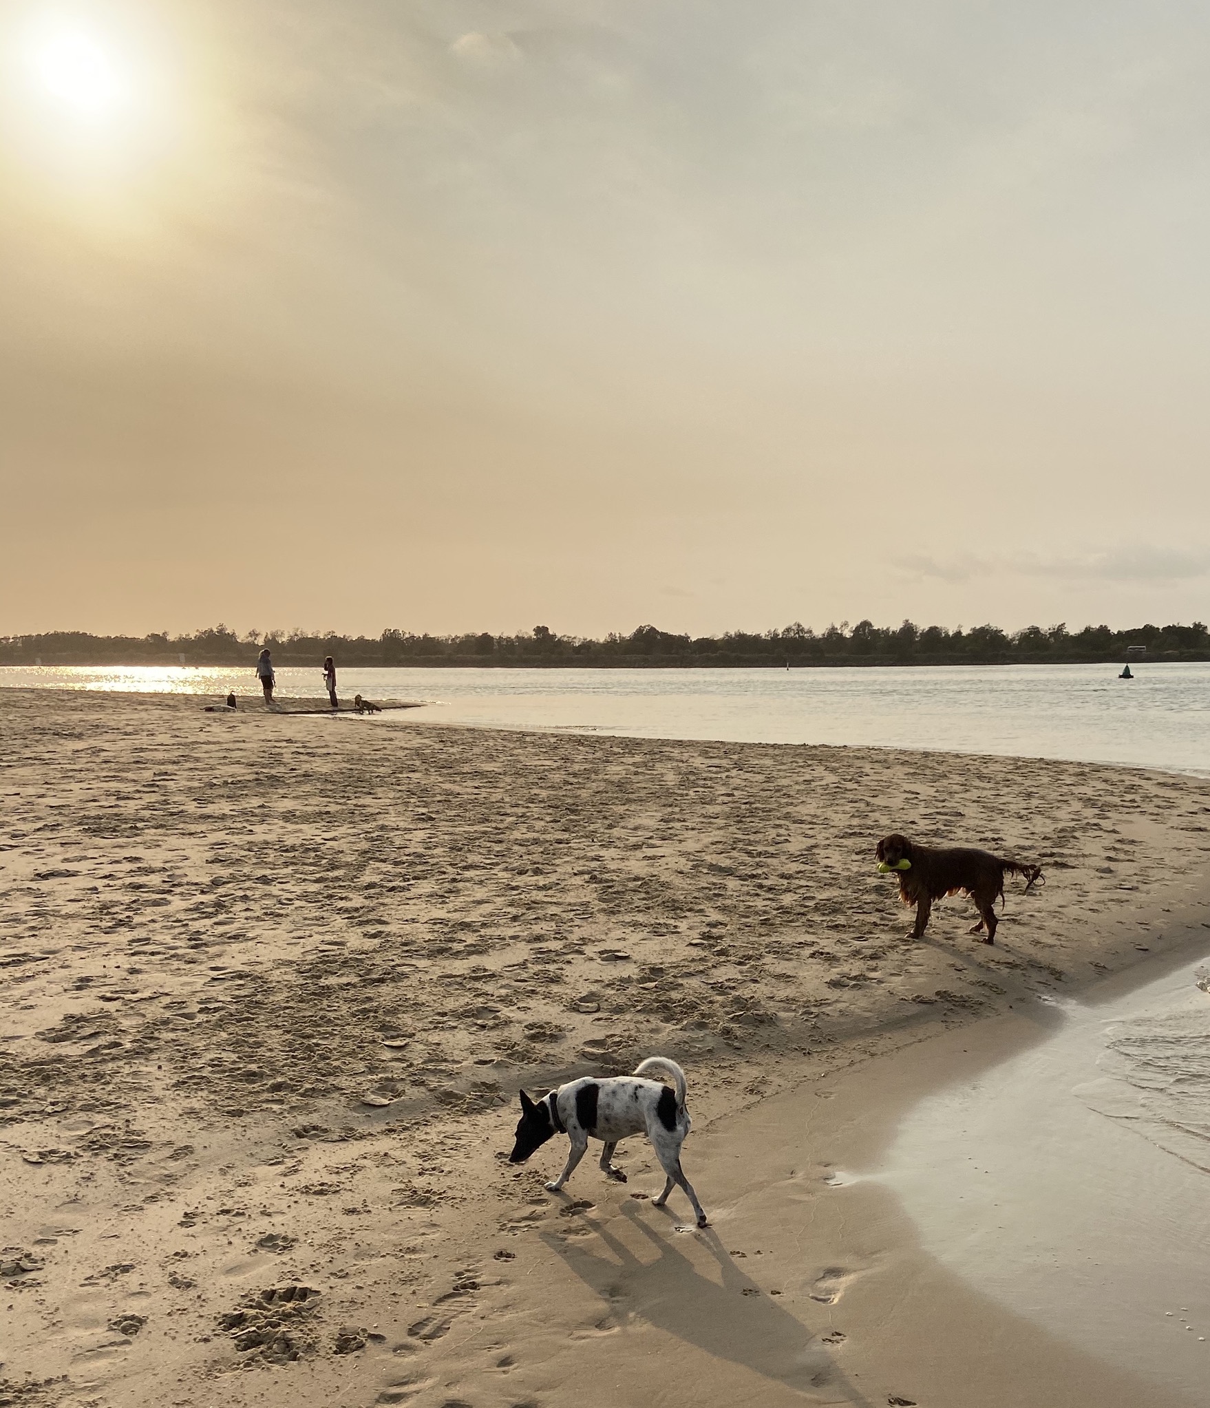
M 1176 1402 L 827 1180 L 973 1019 L 1203 932 L 1206 783 L 17 690 L 0 729 L 0 1402 Z M 1048 884 L 909 943 L 890 829 Z M 521 1084 L 655 1052 L 711 1229 L 642 1143 L 566 1197 L 555 1145 L 503 1162 Z

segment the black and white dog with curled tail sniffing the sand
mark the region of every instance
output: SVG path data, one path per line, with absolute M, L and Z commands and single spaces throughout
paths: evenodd
M 662 1081 L 642 1080 L 649 1070 L 666 1071 L 676 1083 L 676 1093 Z M 620 1139 L 645 1133 L 668 1174 L 663 1193 L 654 1200 L 655 1207 L 663 1207 L 673 1184 L 678 1184 L 693 1204 L 697 1225 L 704 1228 L 706 1214 L 680 1169 L 680 1146 L 690 1128 L 685 1091 L 685 1071 L 666 1056 L 648 1056 L 632 1076 L 610 1076 L 606 1080 L 582 1076 L 541 1100 L 530 1100 L 523 1090 L 517 1142 L 509 1163 L 524 1163 L 555 1133 L 568 1135 L 572 1150 L 566 1167 L 554 1183 L 547 1184 L 551 1193 L 558 1193 L 587 1152 L 589 1138 L 593 1138 L 604 1142 L 601 1169 L 606 1177 L 625 1183 L 625 1174 L 613 1166 L 613 1152 Z

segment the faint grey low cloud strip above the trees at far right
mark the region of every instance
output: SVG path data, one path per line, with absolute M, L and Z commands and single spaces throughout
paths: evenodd
M 954 553 L 934 558 L 907 553 L 893 566 L 909 577 L 969 582 L 975 576 L 1054 577 L 1064 582 L 1189 582 L 1210 574 L 1210 548 L 1120 543 L 1083 553 L 1018 553 L 1016 556 Z

